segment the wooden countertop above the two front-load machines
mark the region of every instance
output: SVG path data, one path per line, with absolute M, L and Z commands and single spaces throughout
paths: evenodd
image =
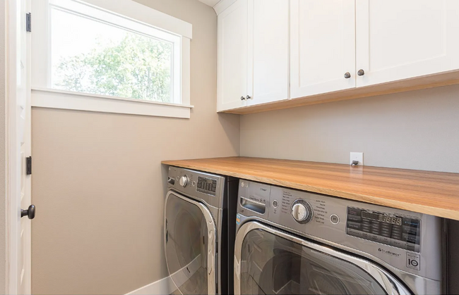
M 162 163 L 459 220 L 458 173 L 244 157 Z

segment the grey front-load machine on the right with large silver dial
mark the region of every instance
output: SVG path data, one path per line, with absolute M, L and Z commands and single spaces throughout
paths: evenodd
M 441 218 L 241 180 L 234 294 L 442 294 Z

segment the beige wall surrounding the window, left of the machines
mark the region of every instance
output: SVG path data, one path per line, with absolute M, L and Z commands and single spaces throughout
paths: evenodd
M 32 292 L 125 294 L 167 276 L 160 161 L 237 156 L 217 115 L 217 17 L 197 0 L 144 0 L 193 24 L 190 120 L 32 109 Z

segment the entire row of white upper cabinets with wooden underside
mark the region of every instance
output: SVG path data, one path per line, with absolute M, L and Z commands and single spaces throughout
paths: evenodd
M 459 0 L 222 0 L 215 11 L 218 111 L 459 84 Z

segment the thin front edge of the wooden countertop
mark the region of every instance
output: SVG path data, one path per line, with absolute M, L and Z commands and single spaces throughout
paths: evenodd
M 177 161 L 162 161 L 162 164 L 181 167 L 181 168 L 188 168 L 188 169 L 193 169 L 193 170 L 200 170 L 200 171 L 210 172 L 210 173 L 215 173 L 215 174 L 220 174 L 220 175 L 227 175 L 227 176 L 242 178 L 244 180 L 263 182 L 266 184 L 278 185 L 280 187 L 289 187 L 291 189 L 299 189 L 299 190 L 307 191 L 307 192 L 326 194 L 326 195 L 335 196 L 338 198 L 350 199 L 352 201 L 362 201 L 364 203 L 373 203 L 376 205 L 381 205 L 381 206 L 386 206 L 386 207 L 398 208 L 402 210 L 407 210 L 407 211 L 412 211 L 412 212 L 417 212 L 417 213 L 424 213 L 428 215 L 435 215 L 441 218 L 459 220 L 459 212 L 448 210 L 446 208 L 425 206 L 425 205 L 416 204 L 416 203 L 408 203 L 405 201 L 396 201 L 393 199 L 386 199 L 386 198 L 381 198 L 378 196 L 369 196 L 369 195 L 357 194 L 353 192 L 345 192 L 345 191 L 340 191 L 336 189 L 328 189 L 326 187 L 316 187 L 314 185 L 309 185 L 309 184 L 299 184 L 297 182 L 287 182 L 283 180 L 275 180 L 275 179 L 267 178 L 267 177 L 258 177 L 254 175 L 247 175 L 244 173 L 231 172 L 227 170 L 219 170 L 219 169 L 208 168 L 208 167 L 203 167 L 199 165 L 189 165 L 186 163 L 178 164 Z

